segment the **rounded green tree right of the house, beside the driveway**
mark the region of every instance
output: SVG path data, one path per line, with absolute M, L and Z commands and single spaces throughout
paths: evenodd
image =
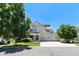
M 69 43 L 71 40 L 77 37 L 75 26 L 62 24 L 57 30 L 58 36 L 63 38 L 65 42 Z

